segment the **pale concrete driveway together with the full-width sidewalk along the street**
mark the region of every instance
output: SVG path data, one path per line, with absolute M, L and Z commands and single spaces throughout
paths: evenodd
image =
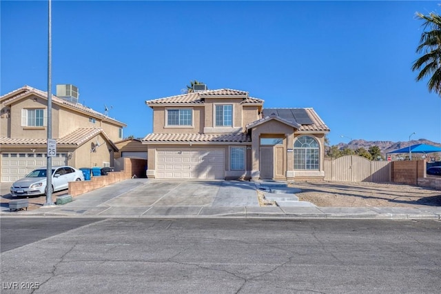
M 267 194 L 271 185 L 277 193 Z M 128 179 L 74 197 L 68 204 L 10 212 L 1 217 L 267 217 L 288 219 L 441 219 L 440 206 L 424 208 L 317 207 L 298 202 L 274 182 Z M 260 206 L 257 190 L 278 206 Z M 281 191 L 281 192 L 280 192 Z

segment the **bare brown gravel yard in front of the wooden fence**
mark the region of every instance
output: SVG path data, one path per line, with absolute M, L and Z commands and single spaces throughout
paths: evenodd
M 316 206 L 416 207 L 441 206 L 441 190 L 404 184 L 369 182 L 295 182 L 299 200 Z

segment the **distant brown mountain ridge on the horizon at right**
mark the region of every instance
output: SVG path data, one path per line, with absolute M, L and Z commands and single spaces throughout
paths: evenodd
M 393 141 L 366 141 L 366 140 L 352 140 L 349 143 L 339 143 L 337 144 L 338 149 L 342 150 L 345 148 L 352 148 L 353 150 L 357 150 L 358 148 L 365 148 L 366 150 L 369 149 L 371 146 L 378 146 L 381 150 L 381 153 L 385 155 L 388 152 L 391 152 L 393 150 L 398 150 L 400 148 L 408 147 L 409 141 L 399 141 L 399 142 L 393 142 Z M 435 143 L 433 141 L 429 141 L 427 139 L 418 139 L 418 140 L 411 140 L 411 145 L 416 144 L 428 144 L 433 146 L 441 147 L 440 143 Z

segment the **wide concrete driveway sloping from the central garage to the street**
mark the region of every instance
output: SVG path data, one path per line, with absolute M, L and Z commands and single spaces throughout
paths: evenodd
M 41 207 L 45 215 L 192 216 L 243 214 L 259 207 L 256 184 L 240 181 L 128 179 L 74 197 L 62 206 Z M 23 212 L 24 213 L 24 212 Z

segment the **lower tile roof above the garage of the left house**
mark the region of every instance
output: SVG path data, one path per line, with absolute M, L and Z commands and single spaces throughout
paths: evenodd
M 57 145 L 78 147 L 100 133 L 114 146 L 115 150 L 118 150 L 112 141 L 110 141 L 110 138 L 104 132 L 103 128 L 77 128 L 72 133 L 57 139 Z M 0 145 L 46 145 L 46 139 L 12 139 L 0 137 Z

